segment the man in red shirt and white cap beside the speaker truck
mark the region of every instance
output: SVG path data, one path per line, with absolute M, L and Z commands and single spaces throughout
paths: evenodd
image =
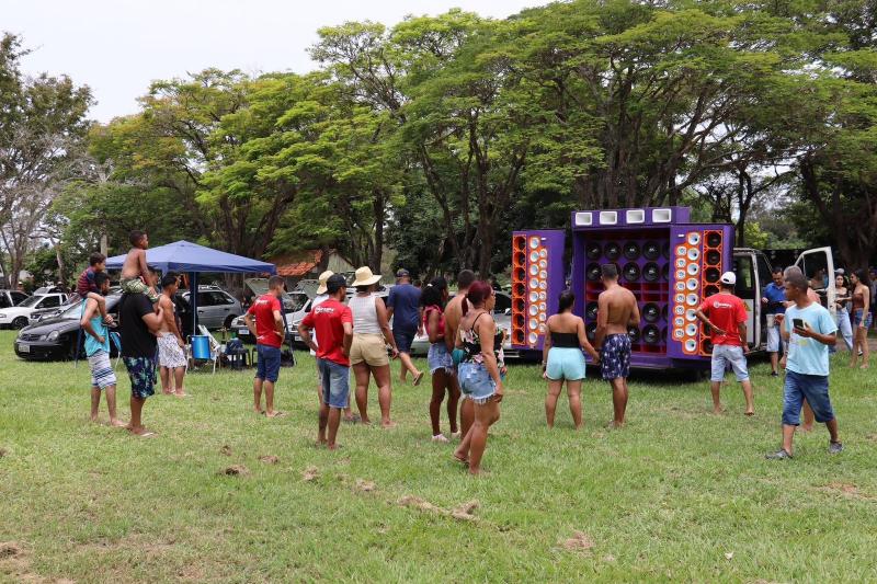
M 709 377 L 709 389 L 713 391 L 713 410 L 718 414 L 722 412 L 719 401 L 719 389 L 725 378 L 725 368 L 730 364 L 737 380 L 743 387 L 747 400 L 747 415 L 755 413 L 752 402 L 752 382 L 747 370 L 749 345 L 747 344 L 747 307 L 743 301 L 734 296 L 733 287 L 737 276 L 733 272 L 726 272 L 719 279 L 721 290 L 719 294 L 705 299 L 697 308 L 697 320 L 711 329 L 713 340 L 713 373 Z

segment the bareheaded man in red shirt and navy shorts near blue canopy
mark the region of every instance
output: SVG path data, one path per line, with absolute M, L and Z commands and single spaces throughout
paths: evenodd
M 255 350 L 259 353 L 259 363 L 253 379 L 253 408 L 257 413 L 267 417 L 276 417 L 282 412 L 274 411 L 274 383 L 281 373 L 281 346 L 286 339 L 286 329 L 283 325 L 283 278 L 271 276 L 267 280 L 267 294 L 260 296 L 243 317 L 243 322 L 250 329 L 250 334 L 255 336 Z M 255 322 L 253 322 L 253 318 Z M 262 410 L 262 387 L 265 388 L 265 410 Z

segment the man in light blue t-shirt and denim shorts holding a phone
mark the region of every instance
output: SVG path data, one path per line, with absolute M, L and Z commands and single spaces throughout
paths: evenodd
M 783 337 L 787 340 L 786 382 L 783 388 L 783 447 L 767 455 L 770 460 L 791 458 L 791 439 L 800 424 L 804 400 L 813 410 L 817 422 L 829 430 L 829 454 L 843 451 L 838 437 L 838 420 L 829 397 L 829 346 L 838 337 L 831 313 L 807 294 L 808 284 L 798 267 L 783 274 L 786 299 L 795 302 L 786 309 Z

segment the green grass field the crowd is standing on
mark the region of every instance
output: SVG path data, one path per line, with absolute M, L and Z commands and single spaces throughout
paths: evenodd
M 709 411 L 706 382 L 631 382 L 628 427 L 605 431 L 605 385 L 583 390 L 579 433 L 561 397 L 545 427 L 545 385 L 512 367 L 502 419 L 468 477 L 429 440 L 429 389 L 397 387 L 399 427 L 342 425 L 337 454 L 312 446 L 314 367 L 284 368 L 274 421 L 250 411 L 251 373 L 187 377 L 189 400 L 155 397 L 138 439 L 88 422 L 86 364 L 32 364 L 0 333 L 0 580 L 134 581 L 874 581 L 877 383 L 834 363 L 846 451 L 824 428 L 778 445 L 781 380 L 753 367 L 758 415 Z M 119 383 L 127 417 L 128 381 Z M 371 392 L 377 414 L 376 392 Z M 106 420 L 101 404 L 102 421 Z M 231 456 L 220 449 L 229 446 Z M 277 465 L 259 461 L 263 455 Z M 249 476 L 228 477 L 230 465 Z M 308 467 L 319 478 L 303 480 Z M 365 492 L 356 480 L 375 483 Z M 475 500 L 476 520 L 401 506 Z M 589 550 L 563 542 L 581 531 Z M 3 550 L 7 550 L 5 552 Z M 730 559 L 726 554 L 733 554 Z

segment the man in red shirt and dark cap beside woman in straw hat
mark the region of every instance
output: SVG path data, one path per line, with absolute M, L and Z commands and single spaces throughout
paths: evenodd
M 341 274 L 334 274 L 326 280 L 329 298 L 314 308 L 298 325 L 298 334 L 305 344 L 317 354 L 317 367 L 322 382 L 322 403 L 317 433 L 319 444 L 334 450 L 338 426 L 341 423 L 341 410 L 350 400 L 350 345 L 353 342 L 353 313 L 344 306 L 348 283 Z M 320 345 L 310 336 L 317 331 Z M 329 427 L 329 436 L 326 428 Z

